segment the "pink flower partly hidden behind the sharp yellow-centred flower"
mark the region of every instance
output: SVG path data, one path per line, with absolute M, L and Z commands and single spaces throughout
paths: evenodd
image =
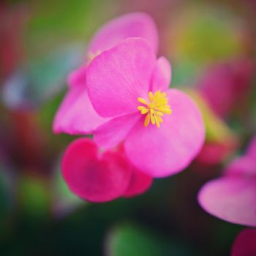
M 154 21 L 140 12 L 123 15 L 102 26 L 89 44 L 86 63 L 73 71 L 68 78 L 69 90 L 53 121 L 55 133 L 85 135 L 103 122 L 91 105 L 86 89 L 86 67 L 99 53 L 127 37 L 143 37 L 157 53 L 158 34 Z

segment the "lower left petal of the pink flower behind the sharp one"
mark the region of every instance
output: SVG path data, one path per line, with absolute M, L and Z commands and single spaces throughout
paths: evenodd
M 108 121 L 94 110 L 83 86 L 69 88 L 53 120 L 53 132 L 86 135 Z

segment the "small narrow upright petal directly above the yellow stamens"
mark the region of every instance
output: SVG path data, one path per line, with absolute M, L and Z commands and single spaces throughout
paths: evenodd
M 151 91 L 166 91 L 170 86 L 170 78 L 170 62 L 165 57 L 160 57 L 151 78 Z

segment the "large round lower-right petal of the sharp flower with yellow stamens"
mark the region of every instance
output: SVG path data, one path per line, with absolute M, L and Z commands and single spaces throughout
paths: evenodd
M 127 157 L 138 169 L 153 177 L 169 176 L 183 170 L 203 146 L 203 119 L 192 99 L 181 91 L 167 91 L 173 110 L 163 117 L 160 128 L 143 120 L 124 143 Z

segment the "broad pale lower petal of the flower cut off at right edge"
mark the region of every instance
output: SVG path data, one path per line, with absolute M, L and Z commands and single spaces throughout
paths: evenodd
M 256 226 L 256 178 L 226 176 L 209 181 L 200 189 L 198 200 L 219 219 Z

